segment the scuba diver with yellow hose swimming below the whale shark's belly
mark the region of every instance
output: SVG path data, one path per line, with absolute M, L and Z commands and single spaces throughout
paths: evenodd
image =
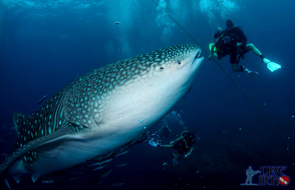
M 190 130 L 190 131 L 183 131 L 180 134 L 180 138 L 178 138 L 174 141 L 171 141 L 170 145 L 159 145 L 152 140 L 149 140 L 148 143 L 152 146 L 159 147 L 159 148 L 177 149 L 178 152 L 176 154 L 175 153 L 171 154 L 172 162 L 173 162 L 174 166 L 176 166 L 178 164 L 177 160 L 179 159 L 179 157 L 183 153 L 186 153 L 185 157 L 187 157 L 191 154 L 191 152 L 194 149 L 194 145 L 196 143 L 196 140 L 200 140 L 200 137 L 195 135 L 194 130 Z

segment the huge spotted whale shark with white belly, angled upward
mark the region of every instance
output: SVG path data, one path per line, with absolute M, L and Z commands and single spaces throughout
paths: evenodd
M 35 113 L 14 113 L 18 140 L 0 165 L 6 183 L 22 174 L 35 182 L 147 133 L 186 95 L 200 55 L 183 44 L 117 61 L 70 82 Z

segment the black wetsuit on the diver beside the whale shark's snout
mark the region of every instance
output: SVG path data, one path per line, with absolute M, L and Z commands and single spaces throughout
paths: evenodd
M 230 42 L 225 43 L 224 37 L 229 37 Z M 244 35 L 244 32 L 240 29 L 240 27 L 231 27 L 227 28 L 221 32 L 215 32 L 214 39 L 217 39 L 215 43 L 215 47 L 217 49 L 217 56 L 218 58 L 225 57 L 226 55 L 230 55 L 230 63 L 239 63 L 240 56 L 237 58 L 237 42 L 242 43 L 240 45 L 240 51 L 239 53 L 245 54 L 249 51 L 246 50 L 246 42 L 247 38 Z

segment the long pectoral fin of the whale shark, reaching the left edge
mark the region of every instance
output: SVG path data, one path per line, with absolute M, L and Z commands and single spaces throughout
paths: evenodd
M 21 148 L 15 150 L 2 162 L 2 164 L 0 165 L 0 172 L 3 172 L 10 164 L 13 163 L 13 161 L 15 161 L 17 158 L 24 155 L 25 153 L 29 152 L 30 150 L 33 150 L 42 145 L 48 145 L 61 140 L 75 139 L 73 135 L 74 133 L 75 132 L 72 128 L 72 125 L 68 124 L 68 126 L 65 126 L 55 131 L 54 133 L 51 133 L 50 135 L 46 135 L 30 141 L 29 143 L 23 145 Z

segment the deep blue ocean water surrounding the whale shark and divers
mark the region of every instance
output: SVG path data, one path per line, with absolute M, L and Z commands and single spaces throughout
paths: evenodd
M 158 2 L 158 0 L 157 0 Z M 33 113 L 39 100 L 51 97 L 75 78 L 114 61 L 166 46 L 195 43 L 152 0 L 0 2 L 0 152 L 9 152 L 17 139 L 14 112 Z M 231 19 L 242 26 L 261 53 L 282 68 L 271 72 L 252 52 L 240 65 L 259 73 L 250 77 L 231 70 L 229 56 L 219 63 L 252 98 L 283 138 L 295 149 L 295 64 L 293 0 L 166 0 L 165 9 L 208 51 L 217 26 Z M 115 22 L 121 24 L 114 25 Z M 77 179 L 42 184 L 30 177 L 14 189 L 254 189 L 240 186 L 249 166 L 287 166 L 290 183 L 265 189 L 294 189 L 294 154 L 224 72 L 205 57 L 191 91 L 164 118 L 179 137 L 184 129 L 200 136 L 187 158 L 173 166 L 170 149 L 147 142 L 134 145 L 108 167 L 126 163 L 100 185 Z M 140 90 L 140 89 L 139 89 Z M 179 115 L 178 115 L 179 114 Z M 157 132 L 164 121 L 150 130 Z M 184 122 L 184 123 L 183 123 Z M 177 136 L 178 135 L 178 136 Z M 288 138 L 290 137 L 290 138 Z M 1 155 L 3 161 L 5 156 Z M 167 166 L 162 164 L 167 162 Z M 99 174 L 99 173 L 98 173 Z M 120 187 L 109 187 L 124 182 Z M 254 176 L 253 183 L 258 183 Z M 1 189 L 7 189 L 1 177 Z M 256 187 L 255 189 L 264 189 Z

